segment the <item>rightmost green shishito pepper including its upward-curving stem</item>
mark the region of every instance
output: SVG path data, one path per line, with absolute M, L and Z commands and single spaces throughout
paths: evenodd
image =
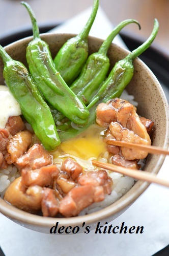
M 112 68 L 107 79 L 103 82 L 101 88 L 87 106 L 90 111 L 90 117 L 86 125 L 80 126 L 68 121 L 63 125 L 57 126 L 61 141 L 65 141 L 79 135 L 92 125 L 95 122 L 95 112 L 97 105 L 100 102 L 106 103 L 112 98 L 121 96 L 123 90 L 133 77 L 133 60 L 150 47 L 157 35 L 158 28 L 158 20 L 155 19 L 154 28 L 149 38 L 141 46 L 129 53 L 124 59 L 118 61 L 114 68 Z

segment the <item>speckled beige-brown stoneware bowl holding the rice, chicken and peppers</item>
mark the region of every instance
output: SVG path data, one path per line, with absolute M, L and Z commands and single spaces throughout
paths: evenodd
M 41 37 L 49 44 L 50 51 L 54 57 L 64 42 L 72 37 L 71 34 L 43 34 Z M 25 52 L 26 46 L 32 37 L 21 39 L 7 46 L 5 49 L 12 58 L 22 61 L 26 65 Z M 96 52 L 101 45 L 102 40 L 94 37 L 89 37 L 89 53 Z M 117 45 L 112 44 L 108 56 L 111 60 L 111 66 L 116 61 L 124 58 L 128 54 Z M 140 60 L 134 60 L 134 77 L 127 87 L 127 91 L 134 95 L 138 104 L 138 114 L 143 115 L 154 121 L 154 132 L 151 136 L 152 144 L 168 147 L 168 104 L 163 93 L 163 90 L 150 69 Z M 0 81 L 4 84 L 3 79 L 3 63 L 0 59 Z M 164 161 L 163 155 L 149 155 L 146 160 L 144 169 L 148 172 L 157 174 Z M 103 225 L 105 222 L 110 222 L 120 216 L 149 186 L 148 182 L 137 181 L 134 186 L 122 196 L 118 201 L 105 207 L 102 210 L 96 211 L 93 214 L 73 217 L 73 218 L 46 218 L 36 216 L 19 210 L 3 199 L 0 199 L 0 211 L 9 219 L 26 228 L 49 233 L 49 230 L 55 223 L 59 222 L 59 226 L 79 226 L 80 231 L 84 232 L 82 223 L 92 228 L 96 227 L 96 223 L 100 222 Z M 80 232 L 79 231 L 79 232 Z M 79 233 L 78 232 L 78 233 Z M 65 234 L 65 233 L 64 233 Z

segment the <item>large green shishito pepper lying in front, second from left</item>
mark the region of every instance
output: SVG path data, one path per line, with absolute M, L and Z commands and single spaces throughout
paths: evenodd
M 89 111 L 70 90 L 61 74 L 55 69 L 48 45 L 40 38 L 35 15 L 25 2 L 21 2 L 30 14 L 34 39 L 26 48 L 26 60 L 30 73 L 43 97 L 54 109 L 76 124 L 88 121 Z

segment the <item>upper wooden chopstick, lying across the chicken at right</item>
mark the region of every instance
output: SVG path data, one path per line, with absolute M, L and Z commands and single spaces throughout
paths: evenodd
M 143 150 L 150 154 L 169 155 L 168 150 L 164 150 L 163 148 L 158 146 L 135 144 L 135 143 L 129 143 L 129 142 L 117 141 L 117 140 L 107 140 L 107 143 L 115 146 L 125 146 L 130 148 L 136 148 L 137 150 Z

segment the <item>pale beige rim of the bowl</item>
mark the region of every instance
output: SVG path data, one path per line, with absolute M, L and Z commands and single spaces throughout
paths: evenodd
M 71 33 L 56 33 L 56 32 L 49 32 L 49 33 L 42 33 L 40 34 L 40 36 L 42 36 L 43 38 L 46 38 L 48 36 L 56 36 L 56 35 L 67 35 L 70 37 L 75 36 L 76 34 L 71 34 Z M 13 47 L 15 44 L 17 44 L 18 42 L 22 41 L 22 42 L 27 42 L 27 40 L 31 40 L 33 38 L 33 36 L 28 36 L 22 39 L 19 39 L 15 42 L 12 42 L 11 44 L 9 44 L 8 46 L 5 47 L 5 49 L 8 49 L 10 47 Z M 89 38 L 97 38 L 97 37 L 93 37 L 93 36 L 89 36 Z M 103 39 L 101 38 L 97 38 L 100 41 L 103 41 Z M 129 52 L 127 49 L 120 47 L 114 43 L 112 43 L 112 45 L 115 45 L 116 47 L 122 49 L 123 51 L 126 52 L 126 54 Z M 169 139 L 168 139 L 168 134 L 169 134 L 169 113 L 168 113 L 168 103 L 165 97 L 165 94 L 160 86 L 159 81 L 157 80 L 157 78 L 155 77 L 155 75 L 153 74 L 153 72 L 149 69 L 149 67 L 147 67 L 147 65 L 140 60 L 138 57 L 136 58 L 136 60 L 134 61 L 139 61 L 140 63 L 142 63 L 142 65 L 144 66 L 145 69 L 147 69 L 150 73 L 152 78 L 155 80 L 155 83 L 158 85 L 158 90 L 161 94 L 163 103 L 164 103 L 164 109 L 166 112 L 166 134 L 165 134 L 165 139 L 164 139 L 164 148 L 168 148 L 169 145 Z M 154 167 L 152 173 L 157 174 L 164 162 L 165 156 L 161 155 L 158 159 L 158 162 L 156 164 L 156 166 Z M 17 220 L 19 222 L 23 222 L 25 224 L 32 224 L 32 225 L 36 225 L 36 226 L 41 226 L 41 227 L 48 227 L 51 228 L 52 225 L 56 222 L 59 222 L 60 226 L 63 225 L 71 225 L 71 226 L 77 226 L 77 225 L 81 225 L 82 222 L 86 222 L 86 224 L 90 224 L 93 222 L 97 222 L 98 220 L 101 221 L 105 218 L 109 218 L 111 216 L 114 216 L 116 214 L 118 214 L 119 211 L 123 211 L 123 209 L 125 207 L 129 207 L 141 194 L 143 194 L 143 192 L 149 187 L 149 183 L 145 182 L 145 181 L 137 181 L 134 186 L 137 186 L 137 189 L 133 192 L 133 187 L 125 194 L 127 197 L 124 199 L 124 196 L 122 196 L 121 198 L 119 198 L 117 201 L 115 201 L 114 203 L 110 204 L 109 206 L 104 207 L 103 209 L 94 211 L 88 215 L 83 215 L 83 216 L 77 216 L 77 217 L 71 217 L 71 218 L 48 218 L 48 217 L 42 217 L 42 216 L 37 216 L 37 215 L 33 215 L 30 214 L 29 212 L 25 212 L 23 210 L 20 210 L 10 204 L 8 204 L 7 202 L 5 202 L 4 199 L 0 198 L 0 212 L 5 215 L 8 218 L 11 218 L 13 220 Z M 119 206 L 120 203 L 120 206 Z

